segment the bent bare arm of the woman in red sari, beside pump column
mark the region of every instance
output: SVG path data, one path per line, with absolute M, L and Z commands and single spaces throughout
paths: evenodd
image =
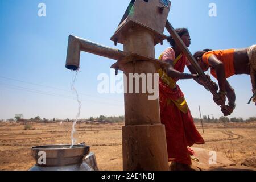
M 177 78 L 177 79 L 197 79 L 199 76 L 197 74 L 188 74 L 188 73 L 181 73 L 174 69 L 174 64 L 172 60 L 166 60 L 167 63 L 169 63 L 169 67 L 167 68 L 167 75 L 171 78 Z

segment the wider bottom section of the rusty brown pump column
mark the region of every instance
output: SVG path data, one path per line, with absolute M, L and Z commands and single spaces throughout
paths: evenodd
M 123 170 L 168 171 L 164 125 L 122 127 Z

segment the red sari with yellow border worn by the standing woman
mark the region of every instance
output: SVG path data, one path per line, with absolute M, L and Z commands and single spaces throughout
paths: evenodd
M 181 56 L 174 69 L 184 72 L 186 63 L 187 58 Z M 172 80 L 175 82 L 173 89 L 159 78 L 160 114 L 161 122 L 166 127 L 168 158 L 169 161 L 191 165 L 188 146 L 204 144 L 204 139 L 195 127 L 183 92 L 176 85 L 178 80 Z

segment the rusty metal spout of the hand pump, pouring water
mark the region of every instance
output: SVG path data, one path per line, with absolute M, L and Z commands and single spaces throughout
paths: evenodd
M 127 52 L 102 46 L 89 40 L 81 39 L 73 35 L 68 38 L 68 51 L 66 68 L 77 70 L 80 67 L 80 51 L 93 53 L 95 55 L 108 57 L 109 59 L 122 60 L 130 54 Z

